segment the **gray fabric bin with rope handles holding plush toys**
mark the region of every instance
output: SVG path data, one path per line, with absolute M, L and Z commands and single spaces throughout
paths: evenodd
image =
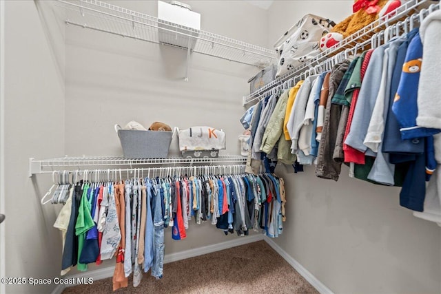
M 124 158 L 166 158 L 173 132 L 119 129 Z

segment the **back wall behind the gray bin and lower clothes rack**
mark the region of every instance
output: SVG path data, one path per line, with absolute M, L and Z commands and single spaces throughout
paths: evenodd
M 156 16 L 156 1 L 112 2 Z M 243 1 L 188 1 L 201 13 L 201 28 L 257 45 L 267 42 L 267 11 Z M 246 19 L 246 22 L 244 21 Z M 66 29 L 65 154 L 121 155 L 114 124 L 154 121 L 181 129 L 209 125 L 227 134 L 223 154 L 239 154 L 243 94 L 257 67 L 192 54 L 184 82 L 187 52 L 121 36 Z M 172 154 L 178 149 L 172 142 Z M 238 238 L 212 224 L 190 222 L 187 239 L 174 241 L 165 231 L 165 253 Z M 105 265 L 114 264 L 114 261 Z

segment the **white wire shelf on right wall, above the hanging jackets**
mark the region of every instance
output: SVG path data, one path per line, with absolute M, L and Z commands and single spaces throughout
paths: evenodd
M 411 14 L 413 14 L 414 12 L 418 12 L 423 8 L 429 8 L 429 6 L 433 3 L 438 3 L 438 1 L 433 1 L 433 0 L 404 1 L 404 3 L 402 3 L 402 5 L 395 10 L 395 12 L 391 13 L 393 14 L 392 16 L 390 17 L 384 16 L 381 19 L 377 19 L 376 21 L 373 21 L 369 25 L 365 26 L 365 28 L 362 28 L 357 32 L 351 34 L 351 36 L 348 36 L 346 39 L 343 39 L 334 47 L 321 52 L 317 56 L 314 56 L 314 58 L 305 62 L 305 64 L 300 65 L 291 72 L 288 72 L 287 74 L 284 74 L 283 76 L 276 78 L 274 81 L 261 87 L 255 92 L 247 96 L 243 96 L 243 105 L 247 105 L 248 103 L 252 103 L 258 100 L 260 96 L 262 96 L 266 92 L 269 92 L 269 90 L 271 90 L 272 88 L 283 84 L 285 81 L 288 81 L 289 79 L 294 78 L 295 76 L 298 76 L 300 73 L 305 72 L 306 70 L 314 69 L 314 67 L 320 65 L 322 61 L 329 59 L 331 56 L 336 55 L 338 52 L 349 50 L 351 48 L 356 48 L 356 46 L 361 44 L 363 44 L 363 47 L 365 46 L 368 47 L 369 40 L 372 38 L 374 34 L 380 32 L 381 30 L 384 30 L 385 28 L 389 27 L 390 25 L 393 25 L 394 23 L 397 23 L 398 21 L 401 21 L 406 17 L 411 16 Z

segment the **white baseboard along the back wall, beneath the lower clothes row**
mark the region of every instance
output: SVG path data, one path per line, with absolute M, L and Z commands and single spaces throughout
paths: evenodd
M 247 237 L 236 238 L 234 240 L 221 242 L 218 244 L 212 244 L 212 245 L 202 246 L 202 247 L 189 249 L 189 250 L 185 250 L 185 251 L 181 251 L 181 252 L 170 253 L 170 254 L 166 254 L 164 256 L 164 263 L 176 262 L 178 260 L 185 260 L 187 258 L 194 258 L 195 256 L 204 255 L 207 253 L 212 253 L 212 252 L 216 252 L 216 251 L 220 251 L 220 250 L 224 250 L 224 249 L 229 249 L 229 248 L 232 248 L 235 246 L 240 246 L 240 245 L 260 241 L 263 239 L 264 239 L 263 235 L 256 234 L 256 235 L 251 235 L 251 236 L 247 236 Z M 113 273 L 114 273 L 114 269 L 115 269 L 114 266 L 107 266 L 103 269 L 96 269 L 94 271 L 86 271 L 84 273 L 77 273 L 76 275 L 69 275 L 68 277 L 63 277 L 63 278 L 66 278 L 66 279 L 73 278 L 74 280 L 85 278 L 87 280 L 88 278 L 91 277 L 94 281 L 102 280 L 107 277 L 112 277 Z M 57 288 L 54 288 L 54 291 L 52 291 L 52 294 L 61 294 L 63 292 L 63 290 L 65 288 L 67 288 L 67 286 L 68 285 L 59 284 L 57 286 Z

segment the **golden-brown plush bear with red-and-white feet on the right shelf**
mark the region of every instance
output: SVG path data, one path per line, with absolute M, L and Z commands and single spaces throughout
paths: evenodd
M 353 14 L 337 23 L 329 34 L 320 39 L 320 50 L 325 51 L 333 47 L 369 23 L 396 10 L 401 3 L 400 0 L 356 0 L 353 4 Z

